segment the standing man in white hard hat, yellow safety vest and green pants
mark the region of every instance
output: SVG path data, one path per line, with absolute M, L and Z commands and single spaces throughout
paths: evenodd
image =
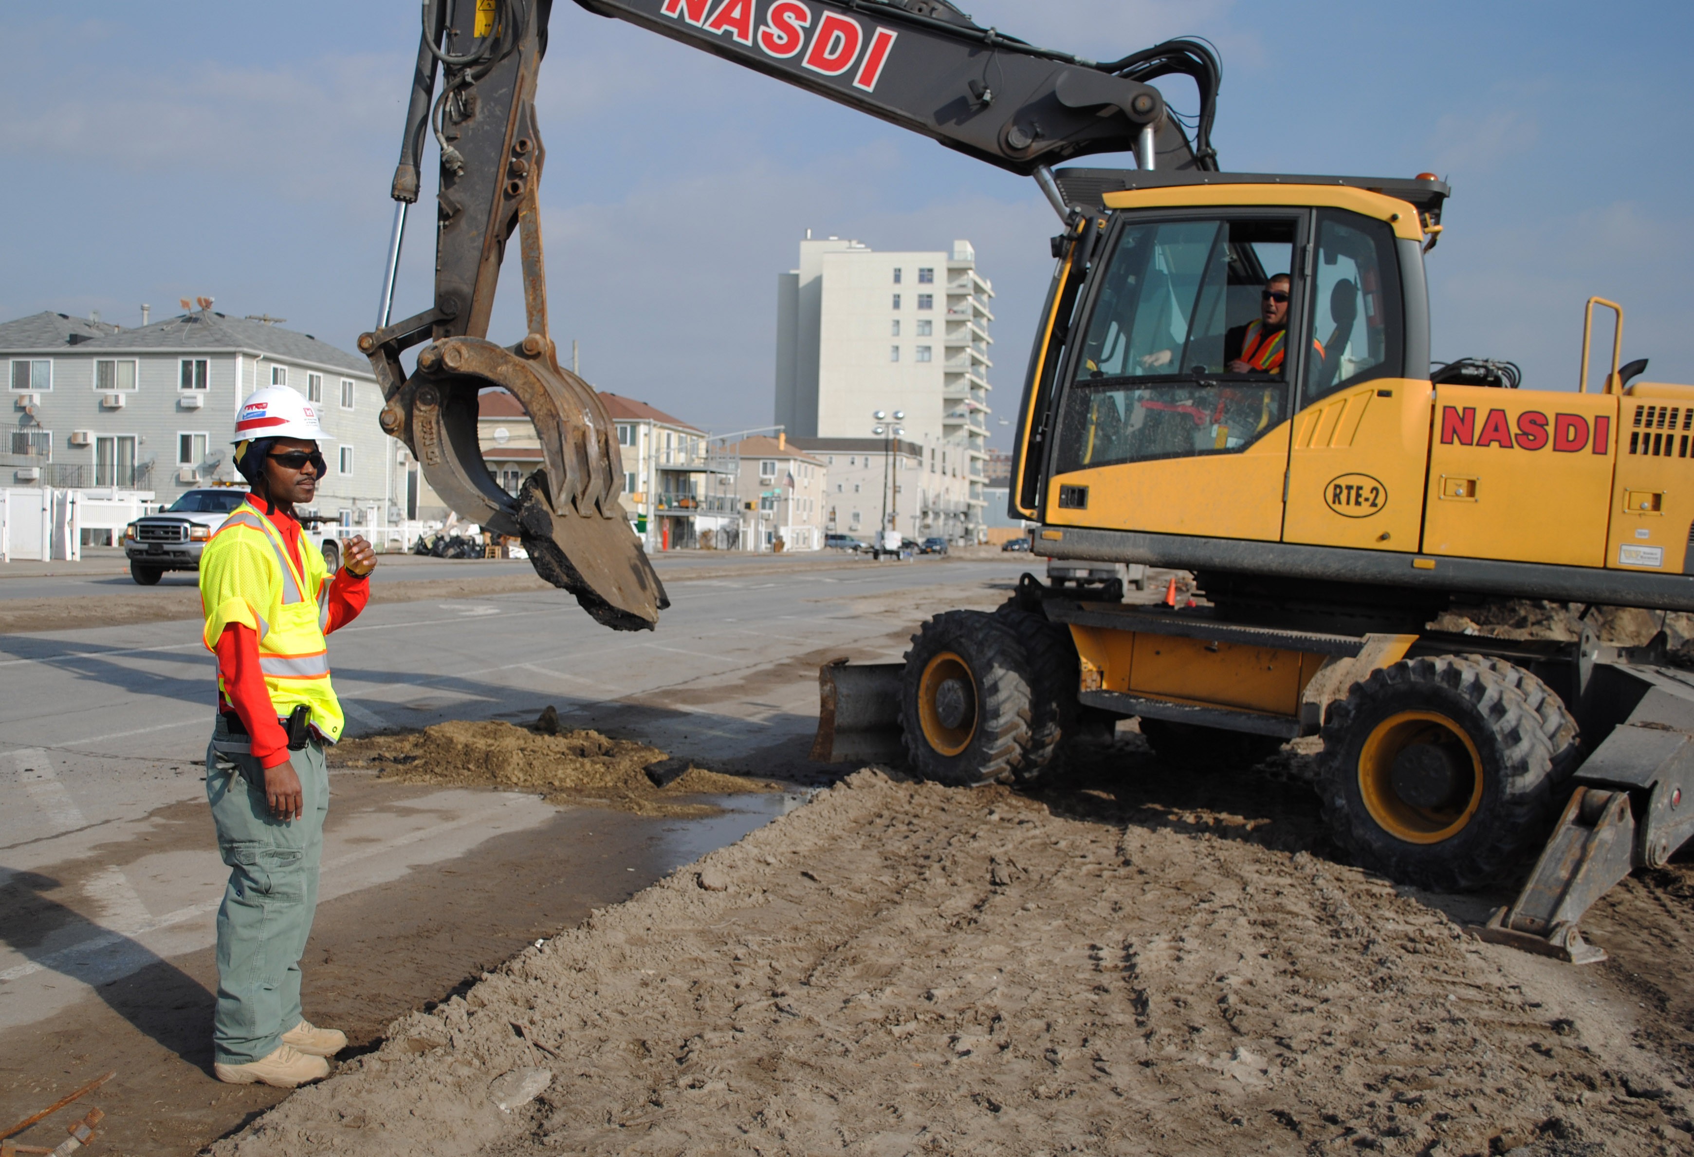
M 200 557 L 203 640 L 219 667 L 207 798 L 230 869 L 217 913 L 212 1050 L 217 1077 L 232 1084 L 318 1081 L 347 1045 L 302 1015 L 300 957 L 329 811 L 324 745 L 342 730 L 324 635 L 364 610 L 376 554 L 347 539 L 332 579 L 300 540 L 295 507 L 317 496 L 325 440 L 317 408 L 296 391 L 249 396 L 234 446 L 251 493 Z

